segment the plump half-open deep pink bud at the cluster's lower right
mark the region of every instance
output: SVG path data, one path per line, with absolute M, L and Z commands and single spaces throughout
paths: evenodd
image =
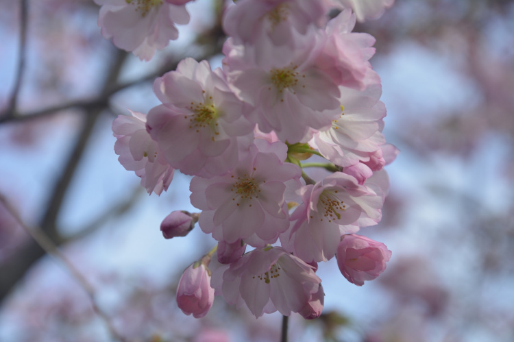
M 337 265 L 351 283 L 362 286 L 386 269 L 391 251 L 386 245 L 356 234 L 344 235 L 337 246 Z

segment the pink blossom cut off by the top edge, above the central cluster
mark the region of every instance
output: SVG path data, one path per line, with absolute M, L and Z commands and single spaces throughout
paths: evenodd
M 223 29 L 237 44 L 294 44 L 293 32 L 306 34 L 309 26 L 321 27 L 328 6 L 320 0 L 239 0 L 228 8 Z

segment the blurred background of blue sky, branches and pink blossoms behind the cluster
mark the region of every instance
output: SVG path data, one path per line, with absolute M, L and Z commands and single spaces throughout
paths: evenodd
M 113 341 L 109 326 L 126 341 L 278 341 L 280 315 L 221 298 L 203 319 L 182 314 L 180 274 L 214 241 L 159 226 L 195 211 L 190 178 L 148 196 L 113 150 L 112 120 L 155 106 L 155 77 L 185 56 L 219 66 L 221 2 L 189 3 L 180 39 L 140 62 L 101 37 L 93 1 L 28 1 L 14 106 L 22 1 L 0 3 L 0 341 Z M 384 134 L 402 151 L 382 222 L 361 232 L 393 257 L 362 287 L 320 265 L 323 315 L 293 315 L 291 341 L 514 341 L 514 1 L 396 0 L 354 31 L 377 39 Z

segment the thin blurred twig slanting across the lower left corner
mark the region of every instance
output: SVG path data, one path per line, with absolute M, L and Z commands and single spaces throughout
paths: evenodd
M 53 256 L 56 260 L 62 262 L 64 264 L 65 269 L 71 273 L 71 276 L 77 280 L 79 285 L 86 291 L 91 304 L 93 306 L 93 310 L 99 317 L 103 320 L 104 323 L 106 323 L 106 326 L 112 335 L 114 339 L 117 339 L 118 341 L 125 341 L 123 337 L 121 337 L 118 332 L 114 329 L 114 326 L 112 326 L 112 322 L 110 321 L 110 318 L 106 313 L 99 308 L 96 300 L 95 300 L 95 290 L 93 289 L 93 286 L 82 276 L 82 273 L 80 273 L 75 266 L 62 254 L 59 249 L 57 249 L 56 245 L 53 244 L 53 242 L 49 239 L 49 237 L 43 232 L 43 230 L 39 227 L 28 227 L 23 220 L 21 219 L 19 213 L 17 210 L 11 206 L 10 202 L 0 193 L 0 201 L 2 202 L 3 206 L 5 206 L 5 209 L 10 212 L 10 215 L 18 221 L 18 223 L 21 225 L 21 227 L 27 232 L 30 236 L 32 236 L 32 239 L 42 247 L 42 249 L 47 252 L 47 254 Z

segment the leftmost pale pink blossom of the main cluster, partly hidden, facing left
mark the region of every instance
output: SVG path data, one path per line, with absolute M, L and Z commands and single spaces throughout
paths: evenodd
M 136 171 L 141 186 L 148 193 L 160 195 L 173 180 L 174 169 L 164 160 L 162 151 L 146 130 L 146 115 L 132 112 L 131 117 L 119 115 L 112 122 L 112 132 L 117 138 L 114 152 L 120 164 L 128 171 Z

